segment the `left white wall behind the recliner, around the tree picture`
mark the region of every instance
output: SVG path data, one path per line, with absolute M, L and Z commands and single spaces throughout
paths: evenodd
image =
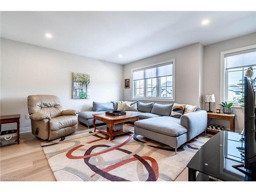
M 72 72 L 91 75 L 90 99 L 72 99 Z M 30 127 L 25 115 L 33 94 L 57 95 L 64 109 L 78 111 L 93 101 L 122 100 L 123 66 L 1 38 L 1 115 L 21 114 L 20 127 Z

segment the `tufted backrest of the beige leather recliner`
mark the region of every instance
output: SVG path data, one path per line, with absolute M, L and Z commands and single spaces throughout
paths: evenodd
M 60 116 L 63 110 L 59 98 L 55 95 L 29 95 L 28 111 L 29 115 L 44 113 L 54 118 Z

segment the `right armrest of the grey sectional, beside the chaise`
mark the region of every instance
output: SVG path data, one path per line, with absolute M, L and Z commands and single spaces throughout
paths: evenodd
M 180 124 L 186 127 L 189 139 L 193 139 L 207 129 L 207 112 L 200 110 L 182 115 Z

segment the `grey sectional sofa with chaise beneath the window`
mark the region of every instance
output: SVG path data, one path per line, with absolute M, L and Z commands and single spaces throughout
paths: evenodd
M 181 118 L 170 117 L 173 104 L 137 103 L 137 113 L 140 120 L 134 122 L 135 136 L 142 135 L 149 139 L 164 143 L 175 148 L 203 133 L 207 128 L 206 111 L 197 108 L 195 112 L 184 114 Z M 132 103 L 132 104 L 133 104 Z M 83 111 L 78 114 L 78 121 L 88 127 L 93 123 L 93 114 L 117 110 L 117 102 L 93 102 L 93 111 Z M 96 124 L 102 123 L 96 121 Z

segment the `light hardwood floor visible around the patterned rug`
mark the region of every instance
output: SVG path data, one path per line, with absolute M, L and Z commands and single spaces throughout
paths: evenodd
M 78 124 L 78 131 L 88 131 Z M 91 129 L 93 131 L 93 129 Z M 20 134 L 19 145 L 13 144 L 0 148 L 0 178 L 21 181 L 56 181 L 40 143 L 32 133 Z M 175 181 L 187 181 L 187 168 Z

